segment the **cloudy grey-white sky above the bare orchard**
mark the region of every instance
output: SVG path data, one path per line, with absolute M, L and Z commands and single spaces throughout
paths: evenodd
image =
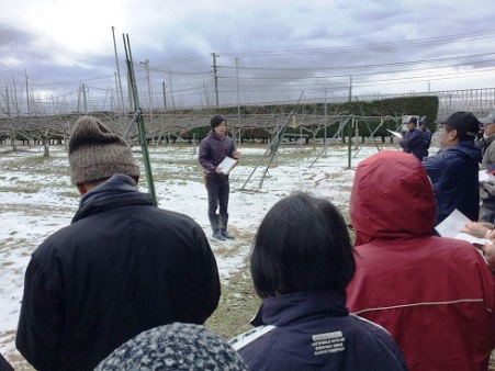
M 55 106 L 126 104 L 123 35 L 144 108 L 329 99 L 350 86 L 353 95 L 492 88 L 494 10 L 492 0 L 10 1 L 0 109 L 7 95 L 25 99 L 26 81 Z

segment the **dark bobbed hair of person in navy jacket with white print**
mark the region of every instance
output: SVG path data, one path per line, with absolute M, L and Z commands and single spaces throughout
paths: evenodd
M 251 276 L 262 299 L 345 292 L 355 270 L 347 225 L 329 201 L 295 192 L 270 209 L 256 234 Z

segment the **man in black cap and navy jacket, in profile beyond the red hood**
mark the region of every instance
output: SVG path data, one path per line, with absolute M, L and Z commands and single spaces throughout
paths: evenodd
M 441 149 L 423 160 L 434 184 L 436 225 L 455 209 L 471 221 L 480 213 L 479 165 L 481 150 L 474 139 L 481 127 L 471 112 L 452 113 L 440 131 Z

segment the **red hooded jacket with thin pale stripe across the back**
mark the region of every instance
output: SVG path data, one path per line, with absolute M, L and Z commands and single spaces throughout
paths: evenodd
M 413 155 L 389 150 L 361 161 L 347 305 L 392 334 L 410 370 L 486 370 L 495 280 L 471 244 L 431 236 L 435 214 L 431 183 Z

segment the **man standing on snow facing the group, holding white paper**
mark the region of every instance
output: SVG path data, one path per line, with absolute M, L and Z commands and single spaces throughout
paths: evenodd
M 210 126 L 212 131 L 201 140 L 198 159 L 205 172 L 209 218 L 213 237 L 225 240 L 226 238 L 234 238 L 227 232 L 228 196 L 230 193 L 228 173 L 240 157 L 240 153 L 236 149 L 234 140 L 226 134 L 227 122 L 223 116 L 213 116 Z M 220 209 L 218 214 L 216 213 L 217 209 Z

